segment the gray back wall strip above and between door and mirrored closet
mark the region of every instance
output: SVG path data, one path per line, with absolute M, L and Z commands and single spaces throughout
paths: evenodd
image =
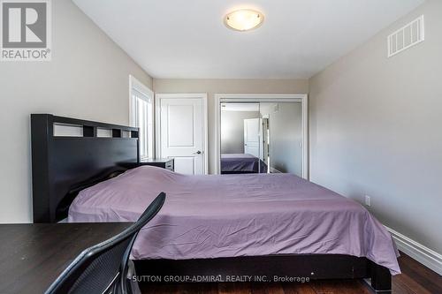
M 307 94 L 307 79 L 154 79 L 156 93 L 208 93 L 209 170 L 215 166 L 214 94 Z

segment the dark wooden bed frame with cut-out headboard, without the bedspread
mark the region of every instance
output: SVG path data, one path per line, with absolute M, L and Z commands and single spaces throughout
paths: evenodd
M 54 125 L 75 125 L 82 136 L 55 136 Z M 98 135 L 106 129 L 110 136 Z M 93 121 L 31 115 L 34 222 L 58 222 L 77 193 L 139 162 L 138 128 Z M 196 260 L 135 260 L 137 275 L 165 277 L 254 276 L 268 282 L 275 275 L 312 279 L 370 279 L 372 289 L 391 290 L 387 268 L 364 257 L 340 254 L 285 254 Z M 207 282 L 207 281 L 206 281 Z

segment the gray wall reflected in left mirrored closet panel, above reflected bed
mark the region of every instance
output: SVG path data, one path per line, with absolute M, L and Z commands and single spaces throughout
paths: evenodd
M 244 153 L 244 119 L 259 118 L 258 111 L 221 111 L 221 153 Z

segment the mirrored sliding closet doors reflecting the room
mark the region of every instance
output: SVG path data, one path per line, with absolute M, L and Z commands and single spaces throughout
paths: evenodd
M 221 103 L 221 174 L 301 177 L 301 102 Z

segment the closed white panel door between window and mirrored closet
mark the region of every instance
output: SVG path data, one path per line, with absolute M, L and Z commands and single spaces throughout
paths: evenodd
M 157 94 L 159 157 L 174 158 L 175 171 L 205 173 L 205 97 L 192 94 Z

